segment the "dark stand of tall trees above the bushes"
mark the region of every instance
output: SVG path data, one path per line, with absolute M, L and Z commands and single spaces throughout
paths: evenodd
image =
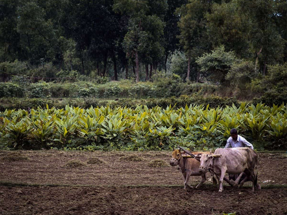
M 0 8 L 0 63 L 50 68 L 39 75 L 67 70 L 148 81 L 157 70 L 175 68 L 169 65 L 179 56 L 187 66 L 173 71 L 199 82 L 220 70 L 211 66 L 218 65 L 215 54 L 232 54 L 263 76 L 287 60 L 281 0 L 2 0 Z M 220 70 L 217 81 L 231 68 Z M 24 73 L 2 72 L 2 80 Z

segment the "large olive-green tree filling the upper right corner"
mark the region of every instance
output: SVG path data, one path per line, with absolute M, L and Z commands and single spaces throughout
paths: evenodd
M 262 73 L 265 75 L 267 63 L 282 62 L 284 56 L 283 44 L 286 41 L 281 37 L 284 34 L 280 33 L 286 32 L 286 25 L 282 26 L 282 17 L 286 17 L 286 2 L 285 13 L 281 3 L 269 0 L 232 0 L 229 3 L 214 4 L 212 11 L 206 14 L 213 44 L 224 44 L 240 57 L 254 59 L 255 56 L 254 70 L 257 70 L 259 61 L 263 64 Z

